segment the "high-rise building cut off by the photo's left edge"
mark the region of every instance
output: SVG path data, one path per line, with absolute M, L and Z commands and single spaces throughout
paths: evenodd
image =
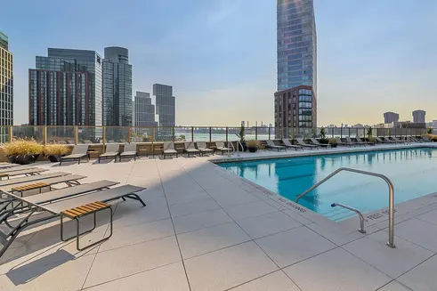
M 13 125 L 12 63 L 8 36 L 0 31 L 0 142 L 8 139 L 8 129 L 4 125 Z

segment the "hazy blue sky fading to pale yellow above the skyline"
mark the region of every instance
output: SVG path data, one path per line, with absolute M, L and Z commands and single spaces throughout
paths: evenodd
M 176 125 L 273 123 L 275 0 L 0 0 L 14 56 L 14 124 L 48 47 L 129 49 L 133 91 L 173 85 Z M 314 0 L 318 125 L 437 119 L 437 1 Z M 134 96 L 133 92 L 133 96 Z

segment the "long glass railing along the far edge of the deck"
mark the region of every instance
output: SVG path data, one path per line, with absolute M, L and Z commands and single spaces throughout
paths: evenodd
M 223 126 L 0 126 L 0 143 L 14 139 L 33 139 L 42 143 L 111 143 L 111 142 L 162 142 L 162 141 L 239 141 L 240 127 Z M 325 127 L 327 138 L 368 136 L 368 127 Z M 426 134 L 429 128 L 374 128 L 372 136 L 403 137 Z M 437 133 L 437 129 L 431 129 Z M 245 128 L 245 139 L 279 140 L 320 138 L 317 128 L 278 128 L 257 126 Z

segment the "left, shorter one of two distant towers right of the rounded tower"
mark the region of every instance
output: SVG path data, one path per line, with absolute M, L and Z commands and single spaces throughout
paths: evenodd
M 155 105 L 151 103 L 150 93 L 137 91 L 134 101 L 135 127 L 158 126 L 155 121 Z M 141 128 L 138 128 L 141 132 Z

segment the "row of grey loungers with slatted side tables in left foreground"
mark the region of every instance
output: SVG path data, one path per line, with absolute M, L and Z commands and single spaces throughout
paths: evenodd
M 68 173 L 50 173 L 38 175 L 39 180 L 32 180 L 34 176 L 10 179 L 0 187 L 3 201 L 0 204 L 0 257 L 11 246 L 13 240 L 17 238 L 20 231 L 28 227 L 45 221 L 61 218 L 61 240 L 64 238 L 63 220 L 69 218 L 75 220 L 77 225 L 76 235 L 71 238 L 77 240 L 77 250 L 92 247 L 108 239 L 112 234 L 112 206 L 109 201 L 126 198 L 139 201 L 142 206 L 146 204 L 137 194 L 145 188 L 134 185 L 123 185 L 116 188 L 109 188 L 118 182 L 99 181 L 88 184 L 79 184 L 78 180 L 85 176 Z M 60 190 L 52 190 L 51 185 L 61 182 L 67 183 L 70 187 Z M 1 182 L 0 182 L 1 183 Z M 35 186 L 35 187 L 34 187 Z M 24 191 L 35 190 L 37 187 L 49 187 L 49 191 L 36 193 L 33 195 L 23 195 Z M 109 235 L 93 244 L 81 247 L 79 237 L 91 230 L 80 231 L 80 221 L 87 215 L 94 215 L 93 229 L 95 228 L 95 214 L 100 211 L 108 210 L 109 216 Z M 12 222 L 13 221 L 13 222 Z M 93 230 L 92 229 L 92 230 Z

